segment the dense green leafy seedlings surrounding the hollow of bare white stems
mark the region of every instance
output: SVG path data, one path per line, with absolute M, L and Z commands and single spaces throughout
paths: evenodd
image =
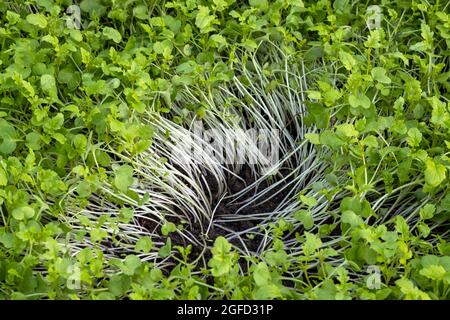
M 372 2 L 83 0 L 77 29 L 70 0 L 0 0 L 0 298 L 450 298 L 450 4 Z M 367 26 L 371 4 L 380 28 Z M 105 190 L 152 201 L 130 190 L 124 160 L 152 143 L 144 115 L 203 117 L 206 103 L 173 106 L 186 90 L 214 96 L 272 46 L 310 74 L 305 121 L 320 132 L 307 139 L 329 163 L 311 188 L 330 218 L 315 225 L 321 200 L 299 195 L 296 252 L 289 219 L 261 256 L 219 237 L 202 265 L 168 240 L 169 269 L 141 259 L 149 237 L 126 257 L 101 250 L 102 226 L 133 218 L 126 206 L 73 228 L 67 208 Z

